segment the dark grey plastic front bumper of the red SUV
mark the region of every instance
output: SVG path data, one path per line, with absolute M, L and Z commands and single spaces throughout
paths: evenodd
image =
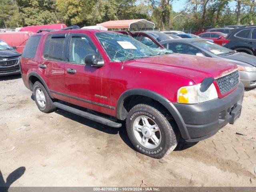
M 187 142 L 204 140 L 218 132 L 226 124 L 234 124 L 240 117 L 244 86 L 238 87 L 228 96 L 200 104 L 178 104 L 174 106 L 182 116 L 189 138 Z

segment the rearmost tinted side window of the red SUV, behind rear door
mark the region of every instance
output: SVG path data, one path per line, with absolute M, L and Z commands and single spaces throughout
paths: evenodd
M 31 58 L 31 59 L 35 57 L 40 38 L 41 38 L 41 36 L 38 35 L 38 36 L 31 36 L 28 39 L 28 42 L 26 43 L 26 45 L 24 47 L 22 57 Z

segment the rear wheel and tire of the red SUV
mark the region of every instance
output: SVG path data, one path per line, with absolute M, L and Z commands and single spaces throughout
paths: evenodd
M 38 81 L 34 83 L 33 94 L 36 105 L 40 111 L 44 113 L 51 113 L 56 110 L 56 107 L 53 105 L 52 99 L 46 89 Z

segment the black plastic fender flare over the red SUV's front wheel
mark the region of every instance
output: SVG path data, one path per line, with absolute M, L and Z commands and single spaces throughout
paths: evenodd
M 123 107 L 124 100 L 132 95 L 141 95 L 141 96 L 147 96 L 149 98 L 152 98 L 153 100 L 158 101 L 160 104 L 162 104 L 172 115 L 174 118 L 176 124 L 178 125 L 178 128 L 180 130 L 180 133 L 182 135 L 182 138 L 184 139 L 190 139 L 190 136 L 188 134 L 188 130 L 186 128 L 186 124 L 180 114 L 180 112 L 177 110 L 177 108 L 174 106 L 172 102 L 170 102 L 168 99 L 166 99 L 164 96 L 150 91 L 146 89 L 131 89 L 125 91 L 118 99 L 117 105 L 116 105 L 116 117 L 120 120 L 124 120 L 126 118 L 126 110 Z

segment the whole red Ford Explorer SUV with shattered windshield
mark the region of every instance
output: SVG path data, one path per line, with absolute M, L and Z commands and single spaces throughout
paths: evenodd
M 60 108 L 117 128 L 126 120 L 134 147 L 154 158 L 174 150 L 180 135 L 196 142 L 233 124 L 244 95 L 230 62 L 158 52 L 124 34 L 74 26 L 31 36 L 21 68 L 42 112 Z

